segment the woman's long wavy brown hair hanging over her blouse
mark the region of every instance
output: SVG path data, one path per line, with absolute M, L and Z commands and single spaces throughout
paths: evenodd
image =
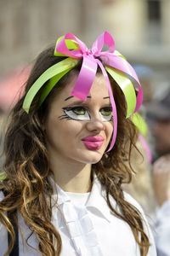
M 53 53 L 54 48 L 52 47 L 39 55 L 26 83 L 26 92 L 48 67 L 61 61 L 62 58 L 54 56 Z M 80 67 L 81 63 L 59 81 L 58 86 L 54 87 L 40 108 L 37 108 L 37 104 L 41 90 L 32 102 L 29 114 L 22 108 L 23 96 L 10 115 L 4 140 L 5 162 L 3 170 L 6 173 L 6 178 L 0 184 L 0 188 L 5 190 L 7 194 L 0 202 L 0 221 L 11 236 L 11 243 L 5 255 L 8 255 L 12 250 L 15 239 L 13 225 L 5 212 L 14 212 L 15 209 L 20 212 L 32 233 L 37 236 L 42 255 L 60 255 L 61 237 L 59 231 L 51 223 L 53 187 L 49 181 L 49 176 L 53 173 L 49 166 L 42 122 L 48 114 L 50 102 L 57 91 L 62 90 L 65 84 L 68 84 L 71 74 L 78 72 Z M 110 80 L 118 113 L 116 144 L 109 153 L 104 154 L 102 159 L 92 166 L 92 171 L 96 173 L 100 183 L 105 188 L 108 207 L 116 214 L 117 218 L 122 218 L 129 224 L 133 236 L 139 244 L 141 256 L 145 256 L 150 242 L 144 233 L 143 219 L 139 211 L 125 200 L 122 192 L 122 183 L 130 182 L 132 177 L 133 171 L 125 163 L 125 160 L 130 160 L 136 132 L 131 120 L 126 119 L 126 103 L 122 90 L 111 77 Z M 110 197 L 114 198 L 121 209 L 121 213 L 116 212 L 116 209 L 111 206 Z

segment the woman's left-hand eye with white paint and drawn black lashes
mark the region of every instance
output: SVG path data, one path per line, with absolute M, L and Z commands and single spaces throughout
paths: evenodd
M 64 114 L 59 119 L 89 120 L 88 110 L 82 106 L 63 108 Z

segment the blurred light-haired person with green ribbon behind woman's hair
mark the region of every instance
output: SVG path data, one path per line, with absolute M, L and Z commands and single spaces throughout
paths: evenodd
M 132 181 L 124 184 L 124 189 L 139 201 L 144 208 L 144 212 L 148 221 L 153 226 L 154 213 L 156 211 L 156 198 L 152 186 L 151 177 L 151 160 L 152 154 L 148 143 L 149 129 L 144 120 L 143 112 L 134 113 L 132 116 L 133 124 L 136 125 L 138 131 L 138 139 L 136 148 L 132 150 L 131 166 L 134 173 Z

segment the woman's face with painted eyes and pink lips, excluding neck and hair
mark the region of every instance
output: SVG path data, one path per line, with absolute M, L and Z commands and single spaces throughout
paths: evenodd
M 77 76 L 54 97 L 45 121 L 48 152 L 56 159 L 97 163 L 111 140 L 111 101 L 105 79 L 98 74 L 82 102 L 71 96 Z

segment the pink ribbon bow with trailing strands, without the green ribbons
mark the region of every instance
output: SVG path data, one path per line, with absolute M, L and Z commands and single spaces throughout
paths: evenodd
M 65 44 L 65 40 L 69 39 L 77 44 L 77 49 L 68 49 Z M 107 50 L 102 51 L 104 46 L 107 46 Z M 82 67 L 80 73 L 77 77 L 77 82 L 71 91 L 72 96 L 76 96 L 82 101 L 84 101 L 91 89 L 91 86 L 94 82 L 95 75 L 97 73 L 98 65 L 105 77 L 105 81 L 108 87 L 109 95 L 111 98 L 111 106 L 113 111 L 113 121 L 114 129 L 113 136 L 111 140 L 111 145 L 108 151 L 113 148 L 116 142 L 116 133 L 117 133 L 117 113 L 116 113 L 116 103 L 112 94 L 111 84 L 109 77 L 105 71 L 105 66 L 116 68 L 122 73 L 126 73 L 137 81 L 139 84 L 139 91 L 137 95 L 136 108 L 134 111 L 137 111 L 143 100 L 143 93 L 139 83 L 137 74 L 135 73 L 133 67 L 121 56 L 114 54 L 115 51 L 115 41 L 112 38 L 109 32 L 103 32 L 94 42 L 92 49 L 88 49 L 87 46 L 78 39 L 72 33 L 67 33 L 65 36 L 56 44 L 55 52 L 58 52 L 62 55 L 69 56 L 75 59 L 82 59 Z M 107 152 L 108 152 L 107 151 Z

